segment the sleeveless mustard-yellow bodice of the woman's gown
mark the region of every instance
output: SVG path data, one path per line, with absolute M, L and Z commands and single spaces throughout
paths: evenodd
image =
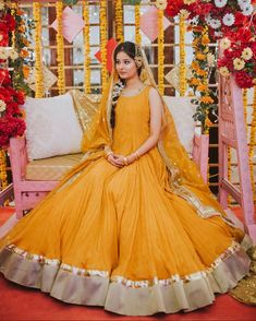
M 119 97 L 115 107 L 113 152 L 130 154 L 148 138 L 150 132 L 149 88 L 150 86 L 146 86 L 137 95 Z

